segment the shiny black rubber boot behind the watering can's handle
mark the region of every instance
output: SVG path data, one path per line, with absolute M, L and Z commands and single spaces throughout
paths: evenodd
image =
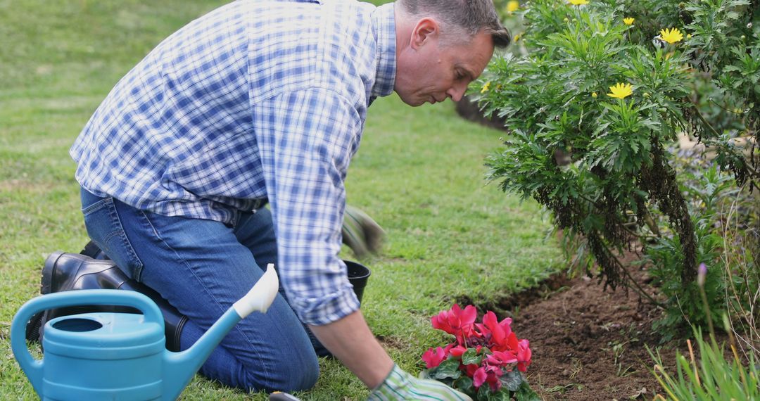
M 87 251 L 87 248 L 84 251 Z M 44 295 L 76 289 L 126 289 L 147 295 L 158 305 L 163 314 L 166 349 L 179 351 L 179 337 L 182 334 L 182 327 L 188 319 L 172 305 L 169 305 L 169 302 L 162 298 L 158 292 L 143 283 L 130 279 L 112 260 L 106 258 L 93 259 L 84 254 L 68 254 L 62 251 L 50 254 L 45 260 L 45 267 L 43 267 L 40 293 Z M 90 312 L 140 313 L 135 308 L 109 305 L 81 305 L 71 308 L 50 309 L 35 314 L 29 320 L 27 339 L 41 343 L 45 323 L 54 317 Z

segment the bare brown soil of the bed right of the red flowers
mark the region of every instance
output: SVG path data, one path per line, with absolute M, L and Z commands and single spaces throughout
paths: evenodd
M 646 270 L 631 273 L 647 286 Z M 662 392 L 646 348 L 660 346 L 652 331 L 660 311 L 635 292 L 603 291 L 589 277 L 556 278 L 528 298 L 534 301 L 512 308 L 512 330 L 530 340 L 528 381 L 543 399 L 652 399 Z

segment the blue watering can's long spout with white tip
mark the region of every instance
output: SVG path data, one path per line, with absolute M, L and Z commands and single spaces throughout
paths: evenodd
M 269 264 L 267 271 L 248 294 L 235 302 L 193 346 L 182 352 L 166 351 L 163 355 L 166 372 L 172 373 L 164 377 L 163 398 L 176 399 L 214 348 L 243 317 L 253 311 L 267 311 L 277 296 L 279 286 L 274 264 Z

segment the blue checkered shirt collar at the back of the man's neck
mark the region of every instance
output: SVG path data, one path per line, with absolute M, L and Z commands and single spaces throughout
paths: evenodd
M 388 3 L 372 11 L 372 31 L 377 40 L 377 71 L 372 97 L 393 93 L 396 81 L 396 23 L 394 3 Z

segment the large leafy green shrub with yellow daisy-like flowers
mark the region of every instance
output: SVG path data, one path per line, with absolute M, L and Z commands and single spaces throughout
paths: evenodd
M 581 258 L 587 273 L 598 266 L 613 288 L 628 275 L 619 254 L 638 238 L 670 310 L 695 324 L 707 320 L 693 302 L 697 265 L 724 267 L 711 268 L 714 304 L 726 303 L 733 275 L 721 261 L 719 216 L 692 204 L 717 205 L 736 185 L 760 183 L 757 8 L 746 0 L 532 0 L 515 13 L 516 46 L 473 90 L 510 131 L 486 159 L 489 179 L 538 200 L 557 228 L 582 238 L 593 255 Z M 705 182 L 717 185 L 709 194 L 685 187 L 701 178 L 676 169 L 671 147 L 684 133 L 714 153 L 713 175 L 699 174 L 724 181 Z

